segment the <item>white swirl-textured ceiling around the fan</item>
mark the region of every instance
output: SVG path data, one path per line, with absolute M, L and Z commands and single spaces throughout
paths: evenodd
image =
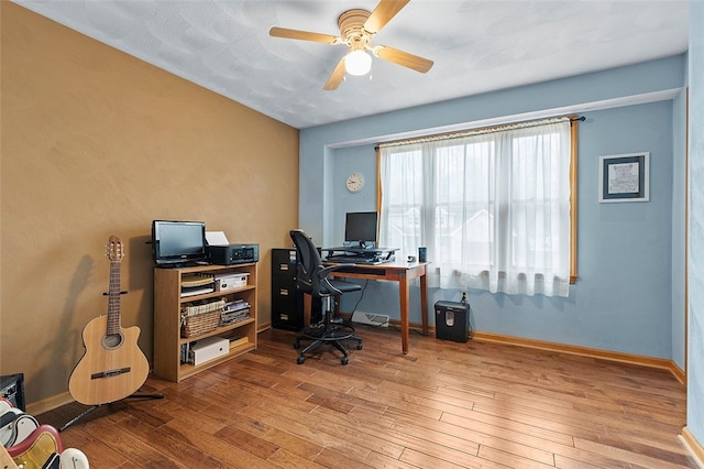
M 299 129 L 675 55 L 689 36 L 685 0 L 411 0 L 374 44 L 432 69 L 375 58 L 324 91 L 345 46 L 270 28 L 338 35 L 340 13 L 377 1 L 14 1 Z

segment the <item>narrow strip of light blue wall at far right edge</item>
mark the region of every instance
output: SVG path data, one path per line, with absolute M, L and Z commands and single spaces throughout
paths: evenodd
M 690 2 L 690 319 L 686 425 L 704 445 L 704 2 Z

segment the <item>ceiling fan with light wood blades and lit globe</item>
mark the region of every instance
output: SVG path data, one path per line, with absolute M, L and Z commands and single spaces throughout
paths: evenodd
M 432 61 L 386 45 L 371 45 L 374 35 L 409 1 L 381 0 L 371 13 L 361 9 L 348 10 L 338 18 L 339 36 L 277 26 L 272 28 L 268 33 L 274 37 L 346 45 L 349 52 L 338 62 L 323 87 L 326 90 L 337 89 L 344 79 L 345 73 L 351 75 L 367 74 L 372 66 L 372 57 L 367 51 L 375 57 L 425 74 L 432 67 Z

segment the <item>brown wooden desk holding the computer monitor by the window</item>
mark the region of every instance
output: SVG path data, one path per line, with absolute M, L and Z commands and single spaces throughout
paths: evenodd
M 400 299 L 400 342 L 408 353 L 410 281 L 420 279 L 420 317 L 422 334 L 428 334 L 428 262 L 387 262 L 377 265 L 356 264 L 351 269 L 332 272 L 332 276 L 344 279 L 389 280 L 398 282 Z

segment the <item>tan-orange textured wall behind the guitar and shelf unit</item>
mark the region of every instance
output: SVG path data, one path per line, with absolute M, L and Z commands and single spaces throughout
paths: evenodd
M 107 313 L 122 238 L 122 326 L 152 361 L 152 219 L 204 220 L 271 249 L 298 220 L 298 130 L 7 1 L 1 4 L 0 373 L 35 410 L 67 397 L 81 331 Z

